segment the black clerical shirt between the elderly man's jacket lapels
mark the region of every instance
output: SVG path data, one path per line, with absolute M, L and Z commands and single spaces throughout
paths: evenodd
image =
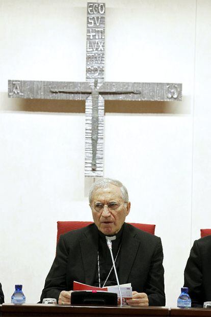
M 118 274 L 119 265 L 120 265 L 119 260 L 120 260 L 120 253 L 121 253 L 121 238 L 122 238 L 123 229 L 124 229 L 124 224 L 122 225 L 120 231 L 116 234 L 116 240 L 112 240 L 112 252 L 113 252 L 114 260 L 120 248 L 116 262 L 115 262 L 117 274 Z M 112 263 L 110 250 L 107 246 L 107 240 L 105 239 L 105 235 L 101 231 L 98 231 L 98 233 L 99 233 L 98 234 L 98 252 L 99 252 L 99 269 L 100 269 L 100 284 L 101 284 L 100 287 L 102 287 L 113 266 L 113 263 Z M 96 266 L 96 274 L 95 274 L 95 280 L 93 285 L 99 287 L 98 263 Z M 104 286 L 111 286 L 111 285 L 117 285 L 114 269 L 112 270 Z

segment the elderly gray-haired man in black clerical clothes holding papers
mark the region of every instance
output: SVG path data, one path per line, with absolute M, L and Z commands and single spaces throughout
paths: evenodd
M 43 298 L 71 303 L 73 281 L 93 286 L 116 285 L 105 236 L 113 236 L 113 255 L 120 284 L 131 283 L 131 306 L 165 306 L 163 248 L 160 237 L 125 223 L 130 202 L 123 184 L 96 181 L 89 203 L 94 223 L 61 235 L 57 255 L 45 280 Z

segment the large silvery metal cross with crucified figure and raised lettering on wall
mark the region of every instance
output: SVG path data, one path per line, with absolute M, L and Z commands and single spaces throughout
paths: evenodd
M 103 176 L 104 100 L 181 100 L 182 84 L 104 82 L 105 4 L 87 4 L 86 82 L 9 80 L 11 98 L 86 100 L 85 176 Z

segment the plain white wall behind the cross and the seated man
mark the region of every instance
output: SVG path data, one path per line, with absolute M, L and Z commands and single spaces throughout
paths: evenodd
M 175 306 L 209 197 L 209 0 L 105 0 L 106 81 L 181 82 L 182 102 L 105 103 L 104 175 L 122 180 L 130 222 L 162 237 Z M 91 220 L 82 102 L 7 98 L 7 80 L 85 81 L 86 0 L 0 0 L 0 281 L 39 300 L 58 220 Z M 203 215 L 203 216 L 201 216 Z

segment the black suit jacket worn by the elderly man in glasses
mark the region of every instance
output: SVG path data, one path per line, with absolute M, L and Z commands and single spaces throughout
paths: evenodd
M 45 280 L 43 298 L 56 298 L 73 289 L 73 281 L 93 284 L 98 250 L 95 224 L 60 236 L 57 255 Z M 124 224 L 119 282 L 148 295 L 149 305 L 165 306 L 163 248 L 160 237 Z

